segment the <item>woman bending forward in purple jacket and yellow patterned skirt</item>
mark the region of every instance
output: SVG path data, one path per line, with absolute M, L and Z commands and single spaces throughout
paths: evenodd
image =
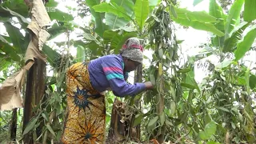
M 128 84 L 128 73 L 142 63 L 138 38 L 129 38 L 120 54 L 106 55 L 91 62 L 78 62 L 66 73 L 67 118 L 63 143 L 103 143 L 105 139 L 105 90 L 114 95 L 134 96 L 152 90 L 151 82 Z

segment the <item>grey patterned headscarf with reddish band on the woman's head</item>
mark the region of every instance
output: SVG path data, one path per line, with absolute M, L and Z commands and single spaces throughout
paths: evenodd
M 132 61 L 140 62 L 143 61 L 143 47 L 139 42 L 138 38 L 129 38 L 126 43 L 122 46 L 120 51 L 122 57 L 129 58 Z

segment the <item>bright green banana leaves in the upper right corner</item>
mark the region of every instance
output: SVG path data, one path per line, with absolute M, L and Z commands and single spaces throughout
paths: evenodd
M 194 0 L 194 6 L 202 1 Z M 174 7 L 176 13 L 172 13 L 170 17 L 183 26 L 211 32 L 214 34 L 211 38 L 212 45 L 221 53 L 233 53 L 234 61 L 238 61 L 250 50 L 255 39 L 255 27 L 250 25 L 256 19 L 255 10 L 251 9 L 256 3 L 250 0 L 234 1 L 229 14 L 224 14 L 216 0 L 210 0 L 209 6 L 209 14 Z M 243 14 L 244 22 L 240 22 L 240 14 Z M 244 34 L 245 31 L 248 32 Z

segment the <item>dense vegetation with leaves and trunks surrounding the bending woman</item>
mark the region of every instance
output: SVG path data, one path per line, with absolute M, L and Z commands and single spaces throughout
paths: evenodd
M 26 52 L 36 34 L 27 26 L 36 15 L 36 1 L 0 1 L 0 26 L 6 29 L 0 34 L 0 82 L 33 63 L 19 87 L 23 108 L 0 112 L 1 142 L 59 142 L 67 67 L 118 54 L 127 38 L 138 37 L 152 58 L 145 57 L 150 66 L 139 66 L 134 82 L 150 80 L 156 88 L 135 98 L 106 94 L 106 142 L 256 143 L 255 61 L 246 60 L 255 52 L 255 1 L 209 0 L 206 13 L 180 8 L 174 0 L 78 0 L 78 15 L 71 8 L 69 14 L 56 9 L 54 0 L 43 1 L 52 22 L 45 26 L 47 40 L 60 34 L 66 40 L 54 46 L 46 42 L 42 55 L 30 59 Z M 194 0 L 194 6 L 202 1 Z M 91 19 L 88 26 L 78 26 L 74 17 Z M 198 46 L 202 52 L 193 57 L 183 55 L 177 25 L 209 32 L 210 42 Z M 82 39 L 70 37 L 75 30 L 82 31 L 77 35 Z M 71 48 L 77 55 L 71 54 Z M 204 61 L 213 55 L 218 64 Z M 187 57 L 185 62 L 180 62 L 182 57 Z M 196 82 L 194 69 L 202 62 L 208 76 Z M 3 99 L 0 92 L 0 105 Z

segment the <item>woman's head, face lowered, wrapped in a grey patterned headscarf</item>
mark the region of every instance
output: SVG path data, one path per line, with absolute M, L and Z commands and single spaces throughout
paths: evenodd
M 143 61 L 143 47 L 138 38 L 129 38 L 120 51 L 127 72 L 133 71 Z

